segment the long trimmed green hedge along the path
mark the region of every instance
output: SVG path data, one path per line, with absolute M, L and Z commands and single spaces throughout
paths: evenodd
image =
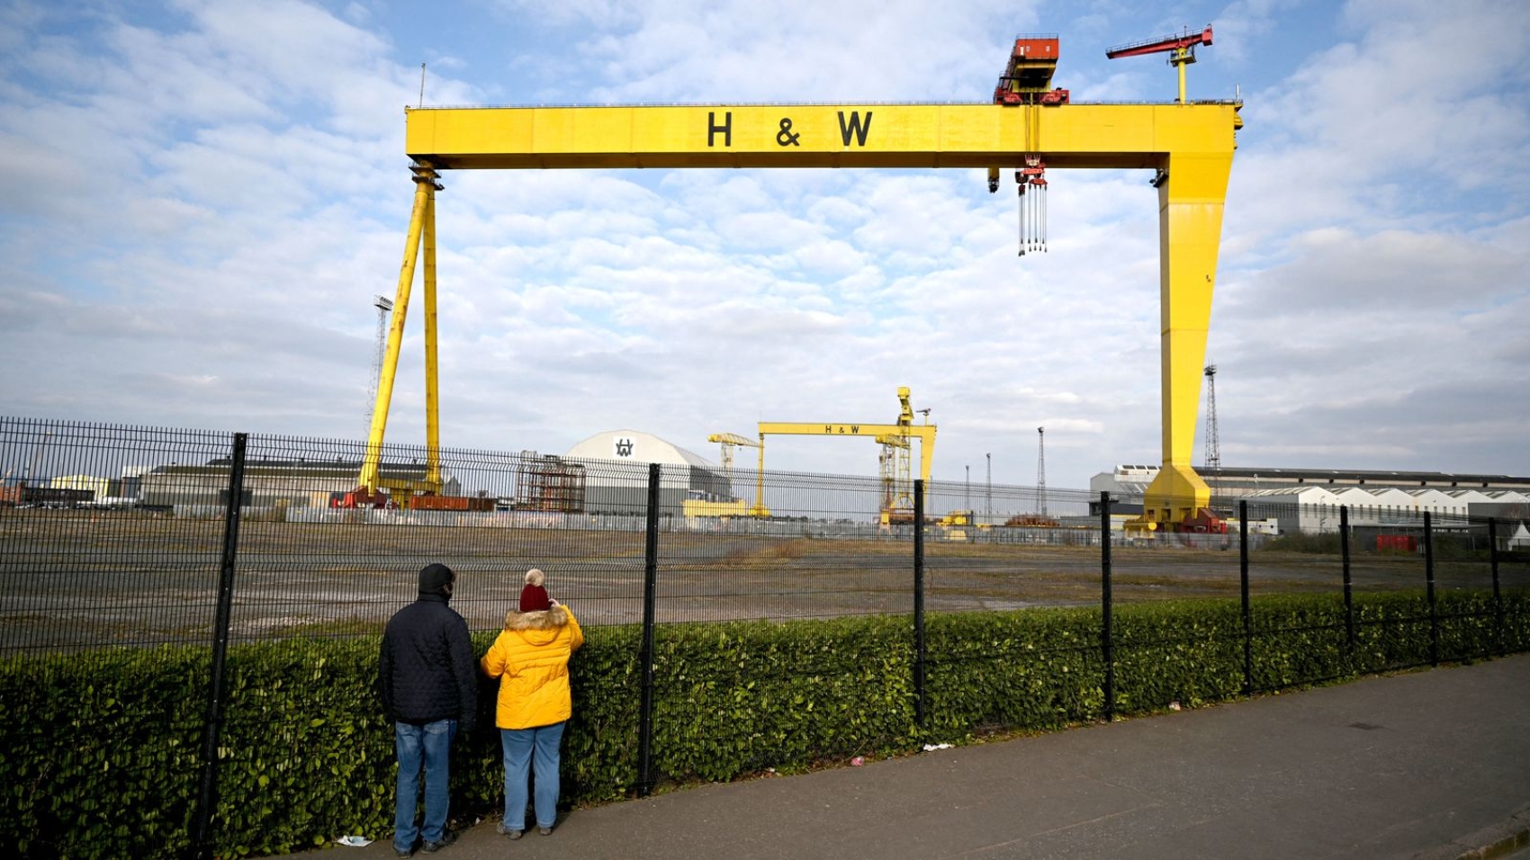
M 1356 597 L 1356 649 L 1337 597 L 1253 603 L 1261 690 L 1431 661 L 1423 594 Z M 1440 658 L 1530 650 L 1530 600 L 1443 592 Z M 1118 606 L 1117 713 L 1241 695 L 1236 600 Z M 636 627 L 591 627 L 572 664 L 565 802 L 630 796 L 638 774 Z M 474 635 L 479 653 L 493 634 Z M 926 724 L 916 725 L 909 617 L 675 624 L 656 630 L 653 762 L 661 780 L 898 754 L 990 728 L 1099 719 L 1099 609 L 932 614 Z M 226 669 L 217 852 L 277 854 L 344 834 L 387 839 L 393 742 L 373 693 L 376 638 L 237 646 Z M 190 842 L 200 779 L 207 649 L 92 650 L 0 661 L 0 845 L 24 857 L 170 857 Z M 453 810 L 502 806 L 494 687 L 454 747 Z

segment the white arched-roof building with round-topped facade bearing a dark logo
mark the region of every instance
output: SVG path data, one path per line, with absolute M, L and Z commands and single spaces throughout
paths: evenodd
M 679 516 L 685 500 L 730 500 L 728 480 L 707 459 L 641 430 L 604 430 L 569 448 L 584 465 L 584 511 L 638 514 L 649 507 L 649 464 L 659 464 L 659 513 Z

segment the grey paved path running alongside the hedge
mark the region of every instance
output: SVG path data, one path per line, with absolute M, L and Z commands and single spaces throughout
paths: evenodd
M 1446 860 L 1525 834 L 1519 655 L 708 785 L 574 811 L 548 837 L 490 820 L 416 857 Z M 387 837 L 335 851 L 393 857 Z

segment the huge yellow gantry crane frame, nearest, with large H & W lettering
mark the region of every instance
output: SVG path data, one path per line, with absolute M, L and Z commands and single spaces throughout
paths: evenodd
M 430 474 L 439 479 L 433 363 L 435 190 L 439 190 L 439 171 L 741 167 L 985 170 L 1013 165 L 1024 190 L 1039 185 L 1036 181 L 1048 167 L 1129 168 L 1154 171 L 1152 185 L 1158 191 L 1163 383 L 1163 470 L 1148 488 L 1144 513 L 1137 525 L 1172 528 L 1210 500 L 1206 482 L 1190 468 L 1190 456 L 1222 207 L 1235 130 L 1242 124 L 1239 107 L 1238 101 L 1080 104 L 1037 96 L 1019 104 L 405 109 L 405 150 L 415 159 L 418 187 L 389 334 L 386 384 L 378 387 L 363 484 L 378 485 L 376 456 L 398 361 L 409 295 L 405 282 L 413 275 L 413 254 L 422 233 L 427 444 Z M 849 425 L 800 427 L 817 435 L 840 435 L 840 427 L 849 433 Z M 868 427 L 860 425 L 858 435 L 866 435 Z M 927 467 L 927 451 L 924 462 Z

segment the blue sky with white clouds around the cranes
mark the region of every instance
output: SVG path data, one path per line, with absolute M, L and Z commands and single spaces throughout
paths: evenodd
M 1224 465 L 1530 474 L 1518 0 L 0 0 L 0 415 L 361 439 L 413 185 L 404 106 L 987 101 L 1056 32 L 1074 99 L 1245 101 L 1209 360 Z M 939 425 L 935 477 L 1157 462 L 1148 171 L 448 173 L 442 444 Z M 389 441 L 424 441 L 419 289 Z M 1204 424 L 1204 406 L 1203 406 Z M 1203 436 L 1196 430 L 1196 464 Z M 866 474 L 871 444 L 771 442 Z

